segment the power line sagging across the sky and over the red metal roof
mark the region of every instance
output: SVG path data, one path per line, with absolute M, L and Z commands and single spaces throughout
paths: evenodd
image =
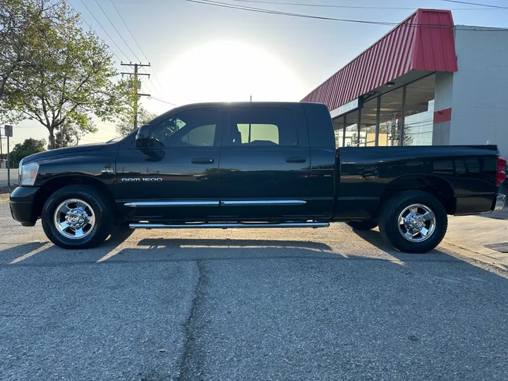
M 331 20 L 331 21 L 341 21 L 346 23 L 361 23 L 361 24 L 371 24 L 371 25 L 391 25 L 391 26 L 401 26 L 403 28 L 428 28 L 428 29 L 448 29 L 451 30 L 453 28 L 453 25 L 449 24 L 422 24 L 422 23 L 415 23 L 415 24 L 401 24 L 401 23 L 388 23 L 383 21 L 370 21 L 370 20 L 353 20 L 348 18 L 332 18 L 332 17 L 325 17 L 325 16 L 314 16 L 314 15 L 307 15 L 303 13 L 291 13 L 291 12 L 283 12 L 283 11 L 274 11 L 271 9 L 266 8 L 253 8 L 250 6 L 236 6 L 234 4 L 227 4 L 222 3 L 220 1 L 212 1 L 212 0 L 186 0 L 191 3 L 196 4 L 206 4 L 210 6 L 219 6 L 222 8 L 231 8 L 231 9 L 239 9 L 241 11 L 251 11 L 251 12 L 258 12 L 258 13 L 269 13 L 273 15 L 280 15 L 280 16 L 292 16 L 292 17 L 299 17 L 299 18 L 312 18 L 317 20 Z M 464 28 L 457 28 L 459 30 L 462 30 Z M 485 32 L 492 32 L 492 31 L 508 31 L 508 28 L 489 28 L 489 29 L 471 29 L 467 28 L 465 30 L 476 30 L 476 31 L 485 31 Z

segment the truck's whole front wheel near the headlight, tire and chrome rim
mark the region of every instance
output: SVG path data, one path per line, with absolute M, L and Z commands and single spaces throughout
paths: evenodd
M 49 196 L 42 208 L 42 228 L 56 246 L 93 248 L 114 224 L 109 202 L 91 186 L 65 186 Z

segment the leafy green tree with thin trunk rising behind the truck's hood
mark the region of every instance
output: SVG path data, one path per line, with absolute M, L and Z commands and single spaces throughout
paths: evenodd
M 96 132 L 92 115 L 111 120 L 124 111 L 128 95 L 126 81 L 114 83 L 118 73 L 107 45 L 80 28 L 66 1 L 56 3 L 52 14 L 56 21 L 45 23 L 32 42 L 35 53 L 22 75 L 25 87 L 13 102 L 47 128 L 49 148 L 56 147 L 55 131 L 64 123 L 80 133 Z

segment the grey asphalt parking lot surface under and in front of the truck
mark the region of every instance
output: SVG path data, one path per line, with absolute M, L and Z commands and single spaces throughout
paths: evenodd
M 442 250 L 334 224 L 66 251 L 6 203 L 0 229 L 0 380 L 508 378 L 507 273 Z

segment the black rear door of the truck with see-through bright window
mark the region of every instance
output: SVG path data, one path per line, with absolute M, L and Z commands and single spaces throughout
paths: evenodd
M 230 221 L 305 219 L 310 152 L 300 104 L 231 107 L 219 168 Z

